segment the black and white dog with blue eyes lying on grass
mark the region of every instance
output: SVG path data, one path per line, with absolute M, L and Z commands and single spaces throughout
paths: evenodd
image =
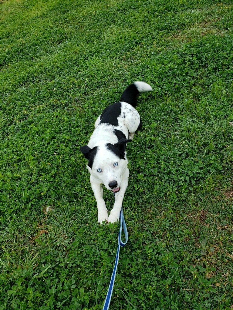
M 95 130 L 88 145 L 80 147 L 88 159 L 91 188 L 98 208 L 98 222 L 114 223 L 119 220 L 121 206 L 128 186 L 129 169 L 126 143 L 133 139 L 142 126 L 135 109 L 137 96 L 152 87 L 144 82 L 134 82 L 121 95 L 121 101 L 105 108 L 95 122 Z M 115 203 L 110 215 L 103 200 L 101 184 L 115 193 Z

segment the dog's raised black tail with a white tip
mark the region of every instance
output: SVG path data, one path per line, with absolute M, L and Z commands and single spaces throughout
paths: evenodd
M 121 95 L 121 100 L 131 104 L 134 108 L 137 105 L 137 97 L 139 93 L 144 91 L 153 91 L 152 87 L 145 82 L 134 82 L 126 88 L 126 90 Z

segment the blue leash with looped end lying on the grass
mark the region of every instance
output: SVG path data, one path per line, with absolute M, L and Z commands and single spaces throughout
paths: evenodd
M 126 238 L 126 242 L 123 242 L 121 240 L 121 231 L 122 231 L 122 225 L 123 225 L 123 229 L 124 229 L 124 233 L 125 233 L 125 238 Z M 120 230 L 119 230 L 119 234 L 118 234 L 118 247 L 117 247 L 117 254 L 116 254 L 116 261 L 115 261 L 115 265 L 113 268 L 113 272 L 112 272 L 112 277 L 111 277 L 111 281 L 108 287 L 108 291 L 107 291 L 107 296 L 103 305 L 103 310 L 108 310 L 110 302 L 111 302 L 111 297 L 112 297 L 112 291 L 113 291 L 113 286 L 114 286 L 114 282 L 115 282 L 115 277 L 116 277 L 116 273 L 117 273 L 117 265 L 118 265 L 118 261 L 119 261 L 119 254 L 120 254 L 120 248 L 124 247 L 126 245 L 128 241 L 128 231 L 126 228 L 126 222 L 124 219 L 124 215 L 123 215 L 123 210 L 121 208 L 121 212 L 120 212 Z

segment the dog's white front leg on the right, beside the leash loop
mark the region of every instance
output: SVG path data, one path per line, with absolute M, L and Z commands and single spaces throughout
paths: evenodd
M 128 186 L 128 179 L 129 179 L 129 169 L 127 167 L 125 174 L 122 176 L 122 179 L 121 179 L 121 189 L 118 193 L 115 194 L 115 203 L 107 219 L 108 223 L 114 223 L 114 222 L 119 221 L 120 219 L 120 212 L 121 212 L 121 207 L 122 207 L 122 203 L 124 199 L 124 194 Z

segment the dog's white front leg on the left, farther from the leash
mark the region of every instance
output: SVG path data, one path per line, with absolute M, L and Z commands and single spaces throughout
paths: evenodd
M 105 202 L 103 200 L 103 188 L 100 183 L 96 182 L 92 176 L 90 177 L 91 181 L 91 188 L 95 195 L 95 199 L 97 202 L 97 209 L 98 209 L 98 223 L 102 224 L 102 222 L 106 222 L 108 218 L 107 208 L 105 206 Z

